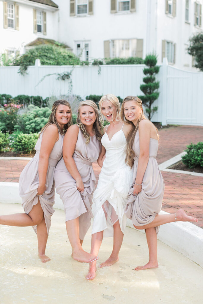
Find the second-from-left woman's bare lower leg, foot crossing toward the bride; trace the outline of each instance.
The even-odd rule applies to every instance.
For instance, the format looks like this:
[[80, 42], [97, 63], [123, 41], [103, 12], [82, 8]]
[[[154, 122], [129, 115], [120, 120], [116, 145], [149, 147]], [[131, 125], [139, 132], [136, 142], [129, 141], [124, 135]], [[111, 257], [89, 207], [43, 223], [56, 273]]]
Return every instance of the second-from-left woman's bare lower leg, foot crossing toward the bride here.
[[65, 222], [68, 239], [72, 246], [72, 257], [79, 262], [92, 262], [98, 259], [97, 256], [89, 254], [82, 249], [79, 238], [79, 217]]

